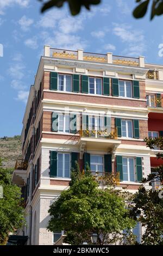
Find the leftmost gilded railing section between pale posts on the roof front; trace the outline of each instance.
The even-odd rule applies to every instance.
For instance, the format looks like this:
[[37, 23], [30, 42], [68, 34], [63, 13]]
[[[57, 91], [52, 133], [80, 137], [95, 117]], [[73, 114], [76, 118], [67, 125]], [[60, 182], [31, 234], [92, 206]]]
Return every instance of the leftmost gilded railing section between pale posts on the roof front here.
[[78, 52], [64, 49], [51, 48], [50, 56], [55, 58], [77, 59]]

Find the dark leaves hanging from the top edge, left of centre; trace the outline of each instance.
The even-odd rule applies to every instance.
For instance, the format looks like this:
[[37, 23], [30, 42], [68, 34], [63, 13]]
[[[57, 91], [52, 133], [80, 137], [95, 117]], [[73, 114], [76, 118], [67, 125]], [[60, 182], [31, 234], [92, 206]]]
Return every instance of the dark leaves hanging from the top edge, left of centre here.
[[[42, 2], [42, 0], [39, 0]], [[48, 2], [43, 4], [41, 12], [48, 10], [52, 7], [62, 7], [62, 5], [67, 2], [72, 15], [77, 15], [80, 13], [82, 6], [84, 6], [87, 10], [90, 10], [91, 4], [99, 4], [101, 0], [49, 0]]]

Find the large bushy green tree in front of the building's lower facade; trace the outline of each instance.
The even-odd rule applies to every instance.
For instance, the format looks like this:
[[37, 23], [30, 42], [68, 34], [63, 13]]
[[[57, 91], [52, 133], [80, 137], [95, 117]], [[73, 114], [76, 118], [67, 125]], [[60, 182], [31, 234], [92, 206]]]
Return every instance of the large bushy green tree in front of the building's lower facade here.
[[49, 214], [48, 229], [65, 230], [66, 241], [72, 245], [84, 241], [91, 244], [92, 233], [100, 235], [98, 245], [115, 243], [120, 240], [122, 230], [135, 225], [120, 194], [98, 188], [90, 174], [80, 174], [68, 190], [62, 191], [50, 206]]

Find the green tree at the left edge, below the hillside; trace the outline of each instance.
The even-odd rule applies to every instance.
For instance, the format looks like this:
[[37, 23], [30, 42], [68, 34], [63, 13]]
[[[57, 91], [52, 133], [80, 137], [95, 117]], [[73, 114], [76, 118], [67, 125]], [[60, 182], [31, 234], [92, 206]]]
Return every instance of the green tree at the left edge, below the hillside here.
[[0, 185], [3, 187], [3, 198], [0, 198], [0, 245], [5, 244], [9, 233], [24, 224], [24, 212], [21, 206], [21, 190], [11, 184], [12, 169], [0, 167]]

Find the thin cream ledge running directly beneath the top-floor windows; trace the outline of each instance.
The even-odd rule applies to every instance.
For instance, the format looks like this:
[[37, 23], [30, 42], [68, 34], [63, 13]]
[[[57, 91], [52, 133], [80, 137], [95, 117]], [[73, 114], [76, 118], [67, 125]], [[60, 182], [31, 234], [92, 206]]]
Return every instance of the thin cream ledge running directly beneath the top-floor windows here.
[[106, 97], [110, 99], [121, 99], [121, 100], [136, 100], [136, 101], [145, 101], [147, 102], [146, 99], [136, 99], [136, 98], [130, 98], [130, 97], [121, 97], [121, 96], [107, 96], [107, 95], [100, 95], [100, 94], [89, 94], [89, 93], [74, 93], [74, 92], [62, 92], [60, 90], [48, 90], [44, 89], [43, 92], [54, 92], [54, 93], [62, 93], [62, 94], [73, 94], [73, 95], [84, 95], [84, 96], [95, 96], [95, 97]]

